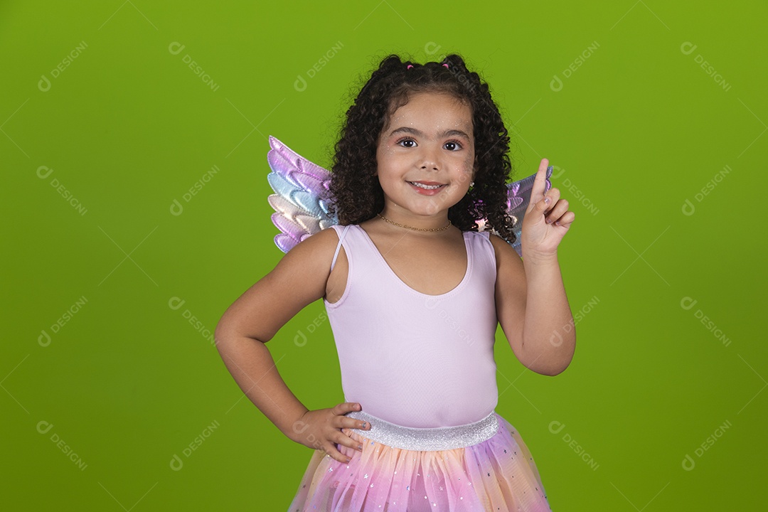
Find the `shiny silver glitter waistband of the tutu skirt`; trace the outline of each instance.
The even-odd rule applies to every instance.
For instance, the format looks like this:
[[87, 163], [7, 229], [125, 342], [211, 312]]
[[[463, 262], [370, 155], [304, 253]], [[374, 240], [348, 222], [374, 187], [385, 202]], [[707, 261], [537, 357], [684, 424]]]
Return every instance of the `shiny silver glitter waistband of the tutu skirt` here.
[[352, 411], [346, 416], [368, 421], [371, 425], [368, 430], [351, 429], [357, 434], [369, 438], [371, 441], [401, 450], [438, 451], [466, 448], [492, 438], [498, 431], [498, 420], [495, 412], [480, 421], [475, 421], [475, 423], [437, 428], [401, 427], [362, 411]]

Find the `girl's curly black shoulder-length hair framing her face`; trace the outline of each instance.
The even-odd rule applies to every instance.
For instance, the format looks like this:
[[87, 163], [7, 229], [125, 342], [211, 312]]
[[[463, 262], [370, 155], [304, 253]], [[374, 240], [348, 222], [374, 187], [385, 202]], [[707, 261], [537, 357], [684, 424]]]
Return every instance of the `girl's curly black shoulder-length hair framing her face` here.
[[[446, 67], [444, 64], [448, 64]], [[394, 112], [408, 102], [409, 93], [441, 92], [465, 101], [472, 110], [475, 137], [475, 185], [448, 210], [449, 220], [462, 231], [484, 229], [515, 242], [507, 213], [506, 183], [512, 170], [509, 135], [491, 98], [488, 84], [468, 71], [459, 55], [442, 62], [417, 64], [389, 55], [373, 71], [353, 105], [346, 111], [330, 183], [331, 214], [339, 224], [362, 223], [384, 208], [384, 192], [376, 176], [376, 148], [382, 129]]]

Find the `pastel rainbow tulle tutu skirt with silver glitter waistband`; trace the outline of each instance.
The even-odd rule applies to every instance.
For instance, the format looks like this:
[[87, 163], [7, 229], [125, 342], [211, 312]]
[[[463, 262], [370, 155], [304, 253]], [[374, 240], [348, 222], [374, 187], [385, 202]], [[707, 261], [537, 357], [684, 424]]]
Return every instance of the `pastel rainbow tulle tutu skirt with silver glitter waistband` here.
[[368, 431], [344, 431], [362, 453], [337, 444], [351, 458], [344, 464], [316, 451], [289, 512], [551, 510], [530, 451], [495, 412], [439, 429], [348, 416], [371, 423]]

